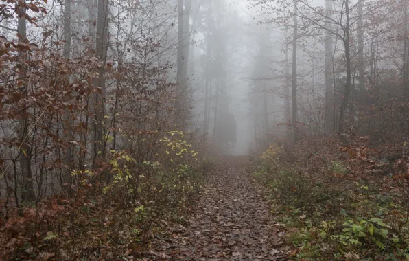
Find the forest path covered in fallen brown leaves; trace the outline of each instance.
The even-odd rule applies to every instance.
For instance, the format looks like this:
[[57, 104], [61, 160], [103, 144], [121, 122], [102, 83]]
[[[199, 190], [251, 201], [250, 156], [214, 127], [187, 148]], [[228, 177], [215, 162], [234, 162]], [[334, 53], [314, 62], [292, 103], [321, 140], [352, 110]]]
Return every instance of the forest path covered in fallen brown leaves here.
[[152, 242], [148, 260], [286, 260], [283, 233], [261, 190], [246, 173], [246, 157], [220, 161], [187, 224]]

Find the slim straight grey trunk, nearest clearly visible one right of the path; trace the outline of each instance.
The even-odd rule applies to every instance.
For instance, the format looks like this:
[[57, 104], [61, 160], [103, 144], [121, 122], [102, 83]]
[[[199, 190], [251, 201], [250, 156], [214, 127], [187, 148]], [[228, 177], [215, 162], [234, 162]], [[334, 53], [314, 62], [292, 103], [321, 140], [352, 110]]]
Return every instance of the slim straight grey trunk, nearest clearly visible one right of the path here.
[[296, 8], [297, 0], [294, 0], [294, 14], [293, 16], [293, 37], [292, 37], [292, 127], [294, 128], [294, 132], [292, 135], [292, 140], [295, 142], [297, 137], [297, 65], [296, 65], [296, 58], [297, 58], [297, 38], [298, 38], [298, 21], [297, 21], [297, 8]]

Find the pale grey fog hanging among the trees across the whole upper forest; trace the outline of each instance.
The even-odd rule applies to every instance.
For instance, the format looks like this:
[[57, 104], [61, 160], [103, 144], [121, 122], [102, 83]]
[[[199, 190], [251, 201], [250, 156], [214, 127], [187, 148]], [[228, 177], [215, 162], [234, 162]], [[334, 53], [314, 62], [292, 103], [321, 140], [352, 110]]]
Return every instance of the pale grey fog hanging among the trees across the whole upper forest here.
[[[407, 18], [397, 12], [407, 9], [406, 1], [67, 0], [41, 6], [29, 6], [34, 20], [28, 25], [5, 15], [2, 35], [16, 41], [22, 30], [43, 54], [102, 63], [91, 76], [104, 101], [96, 122], [115, 121], [95, 140], [115, 129], [114, 145], [125, 149], [132, 146], [117, 139], [117, 120], [122, 130], [195, 133], [209, 155], [248, 155], [314, 135], [342, 137], [347, 126], [360, 126], [355, 105], [368, 99], [362, 93], [400, 85], [393, 79], [409, 75], [408, 26], [399, 22]], [[84, 72], [70, 73], [69, 82], [84, 81]]]

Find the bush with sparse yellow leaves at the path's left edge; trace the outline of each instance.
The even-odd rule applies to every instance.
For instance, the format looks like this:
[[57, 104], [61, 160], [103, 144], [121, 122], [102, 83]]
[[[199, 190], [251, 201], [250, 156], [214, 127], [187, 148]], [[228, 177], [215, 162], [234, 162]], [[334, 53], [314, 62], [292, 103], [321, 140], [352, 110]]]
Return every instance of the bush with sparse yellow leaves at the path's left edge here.
[[104, 192], [112, 190], [121, 195], [118, 199], [122, 203], [149, 206], [161, 212], [185, 205], [196, 194], [203, 170], [198, 153], [183, 138], [182, 132], [171, 131], [159, 139], [154, 161], [137, 162], [114, 152], [110, 161], [113, 182]]

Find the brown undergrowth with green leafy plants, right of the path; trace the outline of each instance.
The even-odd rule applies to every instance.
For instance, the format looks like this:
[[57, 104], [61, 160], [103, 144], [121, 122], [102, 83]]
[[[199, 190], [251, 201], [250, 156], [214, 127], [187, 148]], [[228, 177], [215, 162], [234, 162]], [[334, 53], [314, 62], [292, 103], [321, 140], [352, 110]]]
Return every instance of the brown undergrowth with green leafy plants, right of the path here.
[[394, 174], [379, 176], [382, 163], [366, 146], [307, 160], [291, 148], [303, 152], [296, 163], [288, 151], [273, 144], [253, 166], [294, 260], [409, 260], [408, 180], [396, 162], [388, 170]]

